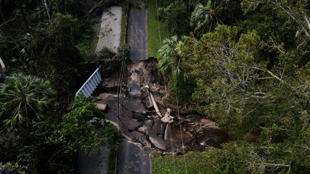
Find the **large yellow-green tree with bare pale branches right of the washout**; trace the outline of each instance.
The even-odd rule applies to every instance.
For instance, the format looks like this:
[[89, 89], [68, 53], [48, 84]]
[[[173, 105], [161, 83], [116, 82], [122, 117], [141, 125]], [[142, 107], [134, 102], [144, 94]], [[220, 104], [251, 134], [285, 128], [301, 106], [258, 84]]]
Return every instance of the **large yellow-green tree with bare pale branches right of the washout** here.
[[197, 81], [192, 97], [198, 112], [215, 119], [239, 140], [246, 140], [253, 130], [261, 131], [257, 143], [225, 145], [230, 149], [227, 153], [242, 155], [235, 159], [237, 163], [248, 161], [243, 164], [249, 173], [307, 171], [309, 60], [299, 63], [304, 56], [301, 51], [272, 44], [279, 50], [279, 62], [268, 67], [262, 58], [266, 43], [258, 34], [237, 33], [236, 27], [221, 26], [199, 41], [188, 38], [185, 42], [182, 68]]

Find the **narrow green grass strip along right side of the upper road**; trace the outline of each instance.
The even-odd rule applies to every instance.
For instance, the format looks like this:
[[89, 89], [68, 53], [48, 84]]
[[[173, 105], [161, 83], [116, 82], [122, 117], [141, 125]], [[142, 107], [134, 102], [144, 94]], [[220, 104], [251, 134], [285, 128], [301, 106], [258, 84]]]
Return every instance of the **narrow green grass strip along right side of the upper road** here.
[[[157, 7], [164, 7], [164, 0], [157, 1]], [[160, 49], [158, 22], [156, 1], [148, 0], [147, 7], [147, 45], [148, 45], [148, 57], [156, 57], [157, 50]], [[163, 41], [168, 37], [166, 21], [159, 21], [161, 40]]]

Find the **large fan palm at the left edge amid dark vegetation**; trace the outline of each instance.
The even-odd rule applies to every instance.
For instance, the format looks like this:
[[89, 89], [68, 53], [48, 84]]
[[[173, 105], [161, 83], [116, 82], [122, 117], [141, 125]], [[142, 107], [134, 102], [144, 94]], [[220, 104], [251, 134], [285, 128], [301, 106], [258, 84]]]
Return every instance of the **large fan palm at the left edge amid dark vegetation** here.
[[0, 85], [0, 118], [4, 127], [13, 129], [32, 121], [42, 121], [53, 109], [56, 92], [50, 83], [22, 73], [7, 77]]

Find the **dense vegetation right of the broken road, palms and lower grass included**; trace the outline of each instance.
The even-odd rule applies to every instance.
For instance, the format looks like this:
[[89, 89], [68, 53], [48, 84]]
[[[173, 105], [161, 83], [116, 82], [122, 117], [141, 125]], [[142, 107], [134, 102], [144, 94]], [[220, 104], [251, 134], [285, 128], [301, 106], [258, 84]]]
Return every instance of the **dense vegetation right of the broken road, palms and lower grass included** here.
[[[178, 82], [169, 83], [170, 91], [193, 89], [179, 90], [179, 103], [236, 139], [186, 154], [188, 173], [309, 172], [308, 8], [307, 1], [198, 0], [161, 9], [171, 20], [170, 35], [186, 36], [184, 43], [165, 40], [157, 54], [161, 72]], [[246, 142], [257, 130], [255, 141]], [[177, 173], [185, 173], [182, 159], [176, 159]], [[152, 161], [152, 172], [172, 173], [171, 157]]]

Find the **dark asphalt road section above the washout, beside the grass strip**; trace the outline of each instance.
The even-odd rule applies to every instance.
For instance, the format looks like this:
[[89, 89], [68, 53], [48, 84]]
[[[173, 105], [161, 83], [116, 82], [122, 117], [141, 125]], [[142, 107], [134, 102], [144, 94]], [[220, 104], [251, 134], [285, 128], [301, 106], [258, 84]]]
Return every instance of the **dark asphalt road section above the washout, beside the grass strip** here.
[[140, 9], [129, 12], [129, 58], [133, 61], [148, 59], [146, 22], [146, 11]]

